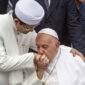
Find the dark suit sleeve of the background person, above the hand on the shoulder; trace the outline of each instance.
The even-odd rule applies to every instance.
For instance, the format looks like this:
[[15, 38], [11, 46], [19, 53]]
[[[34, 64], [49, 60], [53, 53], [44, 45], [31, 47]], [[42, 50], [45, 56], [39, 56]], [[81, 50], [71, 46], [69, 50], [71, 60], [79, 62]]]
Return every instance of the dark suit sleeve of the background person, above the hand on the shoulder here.
[[78, 13], [76, 10], [75, 0], [67, 0], [67, 28], [69, 30], [70, 38], [73, 48], [76, 48], [85, 55], [85, 33], [79, 21]]

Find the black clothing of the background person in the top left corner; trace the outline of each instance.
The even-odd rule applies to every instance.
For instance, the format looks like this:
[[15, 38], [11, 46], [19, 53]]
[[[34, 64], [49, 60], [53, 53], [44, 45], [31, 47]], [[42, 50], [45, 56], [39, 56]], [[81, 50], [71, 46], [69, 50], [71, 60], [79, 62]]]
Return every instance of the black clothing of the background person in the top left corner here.
[[0, 0], [0, 14], [7, 12], [8, 0]]

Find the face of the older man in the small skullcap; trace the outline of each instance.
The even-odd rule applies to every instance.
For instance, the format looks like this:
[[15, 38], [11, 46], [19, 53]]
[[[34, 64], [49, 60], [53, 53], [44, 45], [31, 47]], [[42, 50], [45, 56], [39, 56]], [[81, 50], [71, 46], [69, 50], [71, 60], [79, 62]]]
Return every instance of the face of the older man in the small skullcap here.
[[45, 54], [49, 61], [56, 56], [60, 42], [47, 34], [38, 34], [36, 38], [37, 50], [40, 55]]

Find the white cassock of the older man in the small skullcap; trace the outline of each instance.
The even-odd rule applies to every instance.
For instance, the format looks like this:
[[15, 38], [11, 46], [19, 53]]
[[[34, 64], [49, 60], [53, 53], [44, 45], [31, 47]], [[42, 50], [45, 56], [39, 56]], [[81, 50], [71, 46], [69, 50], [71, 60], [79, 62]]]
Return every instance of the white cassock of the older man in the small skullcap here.
[[30, 78], [24, 85], [85, 85], [85, 63], [80, 56], [73, 57], [69, 48], [60, 46], [43, 79], [38, 83]]

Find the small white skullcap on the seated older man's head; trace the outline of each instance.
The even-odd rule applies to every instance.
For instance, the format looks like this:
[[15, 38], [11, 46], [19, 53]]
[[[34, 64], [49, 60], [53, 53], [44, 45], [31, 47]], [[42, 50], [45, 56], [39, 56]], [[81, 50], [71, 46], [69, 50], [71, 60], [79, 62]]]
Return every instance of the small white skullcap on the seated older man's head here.
[[56, 31], [54, 31], [54, 30], [51, 29], [51, 28], [41, 29], [41, 30], [38, 32], [38, 34], [40, 34], [40, 33], [48, 34], [48, 35], [51, 35], [51, 36], [53, 36], [53, 37], [55, 37], [55, 38], [58, 39], [58, 34], [56, 33]]

